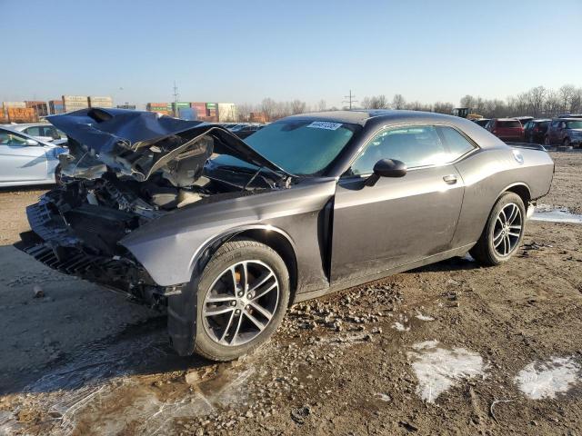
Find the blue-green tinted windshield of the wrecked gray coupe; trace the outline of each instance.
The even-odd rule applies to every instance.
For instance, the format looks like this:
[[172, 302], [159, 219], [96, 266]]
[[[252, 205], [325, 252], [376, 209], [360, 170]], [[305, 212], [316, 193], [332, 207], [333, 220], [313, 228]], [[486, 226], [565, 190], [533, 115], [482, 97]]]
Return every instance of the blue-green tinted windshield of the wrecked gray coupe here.
[[[268, 124], [246, 138], [272, 163], [296, 175], [320, 173], [332, 163], [356, 133], [356, 124], [313, 120], [284, 120]], [[213, 160], [219, 165], [252, 166], [222, 154]]]

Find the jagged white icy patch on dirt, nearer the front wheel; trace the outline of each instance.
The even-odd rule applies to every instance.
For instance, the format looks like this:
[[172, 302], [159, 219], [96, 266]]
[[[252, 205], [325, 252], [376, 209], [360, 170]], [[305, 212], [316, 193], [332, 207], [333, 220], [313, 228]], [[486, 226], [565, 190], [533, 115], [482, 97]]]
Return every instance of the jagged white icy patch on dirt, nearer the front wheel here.
[[419, 342], [412, 348], [414, 351], [406, 355], [418, 380], [416, 394], [426, 402], [435, 402], [459, 381], [485, 378], [487, 365], [476, 352], [464, 348], [448, 350], [438, 341]]

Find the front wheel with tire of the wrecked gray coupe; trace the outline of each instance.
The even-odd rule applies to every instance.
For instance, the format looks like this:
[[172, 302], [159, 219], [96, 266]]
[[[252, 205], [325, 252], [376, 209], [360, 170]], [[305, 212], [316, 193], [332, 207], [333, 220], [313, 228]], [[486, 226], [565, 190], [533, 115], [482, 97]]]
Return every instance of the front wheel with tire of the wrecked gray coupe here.
[[289, 302], [283, 259], [256, 241], [225, 243], [197, 286], [195, 350], [215, 361], [252, 351], [276, 332]]

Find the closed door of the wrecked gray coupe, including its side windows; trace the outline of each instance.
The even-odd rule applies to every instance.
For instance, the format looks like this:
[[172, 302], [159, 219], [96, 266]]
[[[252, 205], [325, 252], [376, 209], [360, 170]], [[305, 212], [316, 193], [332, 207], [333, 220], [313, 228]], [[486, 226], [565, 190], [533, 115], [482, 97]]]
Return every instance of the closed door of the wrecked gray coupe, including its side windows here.
[[[452, 162], [474, 149], [452, 127], [411, 124], [376, 134], [337, 184], [332, 284], [450, 250], [464, 193]], [[406, 163], [406, 175], [366, 186], [380, 159]]]

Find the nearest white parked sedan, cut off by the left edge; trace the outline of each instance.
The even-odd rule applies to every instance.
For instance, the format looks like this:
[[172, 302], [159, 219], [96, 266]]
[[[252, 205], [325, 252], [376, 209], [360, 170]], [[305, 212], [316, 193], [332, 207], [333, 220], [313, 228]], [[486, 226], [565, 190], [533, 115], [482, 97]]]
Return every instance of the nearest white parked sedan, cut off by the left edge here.
[[0, 186], [58, 182], [58, 155], [66, 148], [0, 127]]

